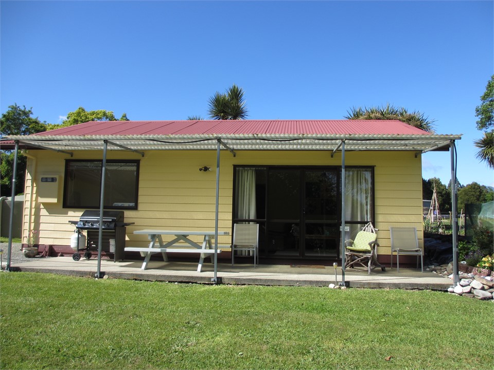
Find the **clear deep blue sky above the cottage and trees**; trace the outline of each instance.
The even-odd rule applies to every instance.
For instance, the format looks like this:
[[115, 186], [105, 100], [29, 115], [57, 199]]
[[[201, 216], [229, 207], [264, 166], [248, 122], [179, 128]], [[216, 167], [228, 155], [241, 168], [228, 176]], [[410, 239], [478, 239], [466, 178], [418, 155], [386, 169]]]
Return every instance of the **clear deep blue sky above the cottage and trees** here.
[[[60, 122], [79, 106], [131, 120], [207, 117], [232, 84], [250, 119], [341, 119], [386, 103], [435, 119], [457, 177], [475, 158], [475, 106], [494, 73], [493, 1], [1, 1], [1, 100]], [[449, 153], [422, 176], [451, 178]]]

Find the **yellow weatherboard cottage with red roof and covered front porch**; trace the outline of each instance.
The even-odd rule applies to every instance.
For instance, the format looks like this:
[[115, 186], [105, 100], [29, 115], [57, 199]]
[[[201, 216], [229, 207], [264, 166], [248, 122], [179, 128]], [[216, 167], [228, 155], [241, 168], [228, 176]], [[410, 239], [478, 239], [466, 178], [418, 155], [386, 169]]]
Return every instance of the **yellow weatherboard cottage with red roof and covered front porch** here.
[[28, 157], [23, 235], [39, 230], [40, 246], [69, 253], [69, 221], [103, 208], [125, 212], [132, 247], [149, 243], [136, 230], [220, 230], [229, 252], [234, 224], [259, 224], [261, 264], [332, 263], [369, 222], [381, 263], [391, 226], [416, 227], [423, 245], [421, 154], [460, 138], [373, 120], [107, 121], [9, 137]]

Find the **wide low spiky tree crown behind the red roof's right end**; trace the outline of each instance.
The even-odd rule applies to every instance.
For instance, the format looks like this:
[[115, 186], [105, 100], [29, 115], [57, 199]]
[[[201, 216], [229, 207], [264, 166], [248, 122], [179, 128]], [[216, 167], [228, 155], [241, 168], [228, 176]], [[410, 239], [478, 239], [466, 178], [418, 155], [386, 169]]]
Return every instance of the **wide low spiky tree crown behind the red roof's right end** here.
[[424, 113], [420, 113], [417, 110], [410, 113], [406, 108], [398, 108], [390, 104], [370, 108], [352, 107], [347, 113], [346, 119], [399, 120], [424, 131], [434, 132], [432, 127], [435, 120], [425, 117]]

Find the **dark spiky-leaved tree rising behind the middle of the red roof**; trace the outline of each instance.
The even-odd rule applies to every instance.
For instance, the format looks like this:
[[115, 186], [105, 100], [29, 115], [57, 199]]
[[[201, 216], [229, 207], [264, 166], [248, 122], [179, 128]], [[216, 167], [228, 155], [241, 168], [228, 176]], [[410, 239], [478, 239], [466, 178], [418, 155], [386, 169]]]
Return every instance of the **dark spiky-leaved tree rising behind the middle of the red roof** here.
[[225, 94], [216, 94], [209, 98], [209, 118], [215, 120], [240, 120], [247, 118], [247, 107], [243, 90], [237, 85], [226, 90]]

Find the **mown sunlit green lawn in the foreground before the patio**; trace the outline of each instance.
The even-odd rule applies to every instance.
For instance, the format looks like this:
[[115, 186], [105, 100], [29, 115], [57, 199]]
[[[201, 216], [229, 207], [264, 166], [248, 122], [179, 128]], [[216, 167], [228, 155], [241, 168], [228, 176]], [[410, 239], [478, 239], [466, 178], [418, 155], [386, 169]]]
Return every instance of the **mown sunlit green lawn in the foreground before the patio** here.
[[0, 283], [2, 369], [494, 368], [494, 304], [443, 292]]

